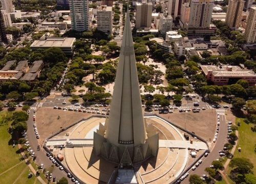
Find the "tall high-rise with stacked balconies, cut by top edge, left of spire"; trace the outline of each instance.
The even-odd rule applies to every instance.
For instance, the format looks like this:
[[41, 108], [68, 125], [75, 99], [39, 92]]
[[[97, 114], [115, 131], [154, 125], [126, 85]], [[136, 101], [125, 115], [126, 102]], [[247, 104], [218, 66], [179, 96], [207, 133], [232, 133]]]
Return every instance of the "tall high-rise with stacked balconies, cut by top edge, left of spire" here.
[[88, 0], [69, 0], [69, 7], [72, 30], [89, 30]]

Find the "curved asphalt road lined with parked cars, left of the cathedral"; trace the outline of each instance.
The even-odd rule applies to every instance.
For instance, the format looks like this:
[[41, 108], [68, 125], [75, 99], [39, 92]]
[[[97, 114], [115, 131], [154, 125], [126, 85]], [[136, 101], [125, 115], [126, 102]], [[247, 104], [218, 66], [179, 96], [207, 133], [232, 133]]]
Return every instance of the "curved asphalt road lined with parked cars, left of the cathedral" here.
[[[36, 113], [34, 113], [32, 109], [30, 111], [31, 112], [28, 120], [28, 130], [27, 130], [29, 144], [33, 149], [33, 151], [35, 152], [36, 163], [38, 165], [44, 164], [44, 168], [50, 168], [50, 166], [53, 165], [53, 163], [51, 162], [49, 157], [46, 156], [46, 151], [44, 150], [44, 148], [40, 147], [40, 150], [37, 151], [38, 140], [36, 139], [36, 135], [33, 127], [33, 124], [35, 123], [33, 121], [33, 114], [36, 114]], [[65, 171], [59, 170], [57, 167], [54, 167], [52, 175], [53, 177], [55, 176], [56, 179], [60, 179], [61, 177], [67, 177], [67, 173]], [[73, 183], [70, 179], [68, 180], [69, 180], [69, 183]]]

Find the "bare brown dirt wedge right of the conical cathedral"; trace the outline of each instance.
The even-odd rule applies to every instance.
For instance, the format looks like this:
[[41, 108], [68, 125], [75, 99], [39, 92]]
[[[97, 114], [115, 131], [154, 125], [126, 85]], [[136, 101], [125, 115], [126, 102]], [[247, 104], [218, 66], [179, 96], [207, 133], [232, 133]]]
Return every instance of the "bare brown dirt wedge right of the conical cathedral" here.
[[160, 115], [189, 131], [195, 132], [205, 140], [209, 140], [209, 138], [212, 139], [212, 137], [214, 137], [217, 123], [215, 110], [201, 110], [199, 113], [190, 111], [187, 113], [177, 112]]

